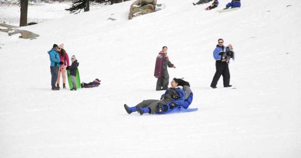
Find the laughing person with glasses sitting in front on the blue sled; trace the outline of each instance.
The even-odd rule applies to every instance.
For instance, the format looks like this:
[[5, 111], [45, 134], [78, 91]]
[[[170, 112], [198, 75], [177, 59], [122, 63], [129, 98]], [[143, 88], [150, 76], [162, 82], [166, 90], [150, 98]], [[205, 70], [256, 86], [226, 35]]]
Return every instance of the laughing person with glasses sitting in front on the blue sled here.
[[129, 107], [124, 104], [127, 113], [138, 112], [140, 115], [143, 113], [156, 113], [166, 112], [168, 109], [173, 109], [175, 106], [181, 106], [184, 103], [185, 92], [183, 87], [179, 86], [180, 79], [174, 78], [172, 80], [171, 88], [168, 88], [161, 96], [161, 100], [144, 100], [134, 107]]

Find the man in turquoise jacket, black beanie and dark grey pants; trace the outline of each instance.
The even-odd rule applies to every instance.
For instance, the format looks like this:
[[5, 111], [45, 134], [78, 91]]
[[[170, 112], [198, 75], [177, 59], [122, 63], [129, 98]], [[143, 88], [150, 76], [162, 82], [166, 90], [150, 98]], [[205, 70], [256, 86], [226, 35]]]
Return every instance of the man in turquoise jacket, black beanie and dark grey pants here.
[[50, 73], [51, 73], [51, 89], [53, 91], [60, 90], [55, 87], [55, 82], [57, 80], [59, 67], [63, 62], [60, 60], [59, 53], [57, 52], [58, 46], [53, 45], [52, 49], [48, 51], [50, 58]]

